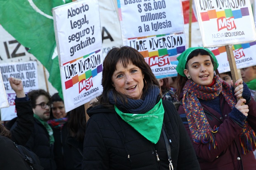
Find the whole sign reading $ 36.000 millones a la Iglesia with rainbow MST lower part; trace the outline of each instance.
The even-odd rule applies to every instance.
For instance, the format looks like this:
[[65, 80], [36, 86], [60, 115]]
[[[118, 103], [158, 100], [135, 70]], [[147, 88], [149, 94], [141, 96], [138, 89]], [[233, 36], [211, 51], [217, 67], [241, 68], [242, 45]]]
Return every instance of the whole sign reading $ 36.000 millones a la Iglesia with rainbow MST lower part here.
[[140, 51], [156, 78], [177, 76], [176, 58], [186, 49], [181, 1], [117, 0], [117, 6], [123, 45]]

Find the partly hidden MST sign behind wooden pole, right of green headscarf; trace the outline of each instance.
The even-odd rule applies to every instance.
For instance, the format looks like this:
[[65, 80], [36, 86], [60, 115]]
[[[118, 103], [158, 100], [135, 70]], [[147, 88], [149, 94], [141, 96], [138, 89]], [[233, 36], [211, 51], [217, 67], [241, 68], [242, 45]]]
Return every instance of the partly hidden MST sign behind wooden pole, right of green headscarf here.
[[[218, 60], [218, 72], [223, 73], [230, 71], [230, 65], [225, 47], [209, 49], [213, 52], [213, 54], [216, 56], [216, 59]], [[254, 57], [256, 51], [256, 42], [233, 45], [232, 49], [237, 69], [256, 65], [256, 57]]]

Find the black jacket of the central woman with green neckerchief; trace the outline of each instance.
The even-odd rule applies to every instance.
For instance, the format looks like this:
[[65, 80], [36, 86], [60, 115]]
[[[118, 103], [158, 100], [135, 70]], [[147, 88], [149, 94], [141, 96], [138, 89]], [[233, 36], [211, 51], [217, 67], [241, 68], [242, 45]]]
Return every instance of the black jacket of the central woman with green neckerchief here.
[[[166, 100], [163, 105], [174, 169], [199, 170], [192, 143], [174, 105]], [[114, 109], [98, 105], [87, 113], [90, 119], [84, 140], [83, 170], [169, 170], [162, 133], [157, 144], [153, 144], [123, 121]]]

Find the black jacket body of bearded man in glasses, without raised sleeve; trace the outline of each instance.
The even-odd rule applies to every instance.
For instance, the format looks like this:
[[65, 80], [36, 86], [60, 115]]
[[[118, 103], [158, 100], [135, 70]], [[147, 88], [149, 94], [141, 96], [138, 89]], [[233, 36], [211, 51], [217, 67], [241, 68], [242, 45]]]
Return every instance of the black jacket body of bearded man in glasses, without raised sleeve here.
[[33, 151], [40, 159], [44, 170], [56, 170], [54, 161], [53, 144], [50, 144], [49, 134], [40, 121], [34, 118], [34, 130], [26, 143], [26, 148]]

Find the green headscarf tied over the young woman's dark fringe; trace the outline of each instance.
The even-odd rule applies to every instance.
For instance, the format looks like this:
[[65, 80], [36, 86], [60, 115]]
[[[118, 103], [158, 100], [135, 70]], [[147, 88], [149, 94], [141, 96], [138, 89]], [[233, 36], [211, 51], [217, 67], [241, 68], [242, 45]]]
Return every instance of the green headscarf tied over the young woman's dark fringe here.
[[184, 70], [186, 69], [187, 58], [190, 55], [190, 53], [196, 49], [204, 49], [205, 51], [207, 51], [211, 55], [211, 57], [213, 58], [213, 61], [215, 63], [213, 70], [216, 70], [218, 68], [218, 66], [219, 66], [218, 61], [217, 61], [215, 55], [213, 54], [213, 52], [211, 52], [211, 50], [206, 49], [204, 47], [191, 47], [191, 48], [188, 48], [185, 51], [183, 51], [183, 53], [177, 57], [179, 63], [176, 67], [176, 70], [181, 76], [186, 77], [186, 75], [184, 74]]

